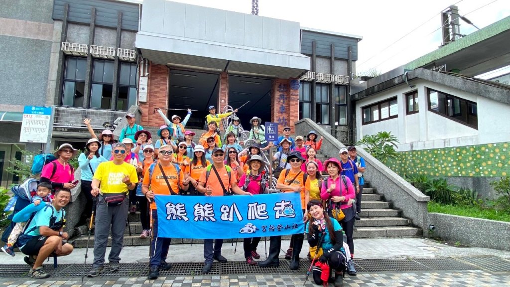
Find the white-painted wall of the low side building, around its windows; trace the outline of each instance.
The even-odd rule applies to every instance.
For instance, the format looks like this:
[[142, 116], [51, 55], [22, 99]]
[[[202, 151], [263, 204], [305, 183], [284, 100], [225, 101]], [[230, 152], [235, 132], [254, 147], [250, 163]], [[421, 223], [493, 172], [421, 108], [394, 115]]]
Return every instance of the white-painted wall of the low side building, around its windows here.
[[[382, 91], [368, 99], [356, 102], [356, 125], [358, 139], [366, 134], [391, 131], [400, 141], [398, 151], [438, 149], [446, 147], [480, 145], [508, 141], [510, 125], [504, 120], [510, 115], [510, 105], [502, 104], [476, 94], [458, 90], [425, 80], [412, 82]], [[454, 95], [477, 103], [478, 129], [468, 127], [428, 110], [427, 88]], [[405, 93], [418, 90], [419, 112], [405, 114]], [[397, 96], [398, 117], [362, 125], [362, 107]]]

